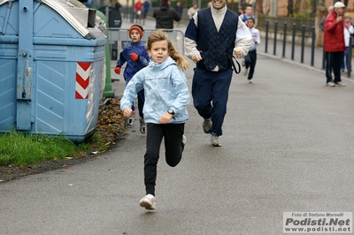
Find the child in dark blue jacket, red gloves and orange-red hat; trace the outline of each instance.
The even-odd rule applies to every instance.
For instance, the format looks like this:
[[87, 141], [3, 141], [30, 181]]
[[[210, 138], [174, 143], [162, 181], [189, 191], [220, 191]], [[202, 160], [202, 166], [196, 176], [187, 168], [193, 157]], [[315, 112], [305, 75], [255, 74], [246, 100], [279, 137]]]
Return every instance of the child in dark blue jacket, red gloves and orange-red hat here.
[[[142, 43], [143, 28], [139, 25], [133, 25], [129, 28], [129, 37], [132, 42], [128, 42], [124, 49], [119, 54], [117, 66], [114, 72], [120, 74], [120, 68], [127, 62], [126, 69], [124, 70], [124, 80], [126, 80], [126, 86], [128, 82], [133, 78], [136, 72], [140, 71], [143, 67], [149, 64], [149, 54], [145, 49], [144, 43]], [[140, 132], [145, 133], [146, 125], [142, 114], [142, 108], [144, 103], [144, 91], [141, 90], [138, 93], [138, 109], [139, 109], [139, 121]], [[127, 125], [132, 125], [135, 117], [135, 106], [132, 104], [133, 113], [127, 118]]]

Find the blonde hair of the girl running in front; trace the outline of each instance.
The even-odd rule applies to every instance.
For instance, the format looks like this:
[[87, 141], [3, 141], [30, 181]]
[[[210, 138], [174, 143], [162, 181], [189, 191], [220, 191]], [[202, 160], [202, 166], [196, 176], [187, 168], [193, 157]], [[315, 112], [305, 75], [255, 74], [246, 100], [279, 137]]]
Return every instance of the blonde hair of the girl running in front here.
[[146, 42], [146, 49], [150, 50], [152, 43], [159, 41], [167, 42], [168, 54], [173, 58], [173, 60], [177, 63], [177, 66], [181, 68], [182, 71], [189, 68], [189, 62], [174, 48], [171, 38], [165, 34], [162, 29], [158, 29], [150, 34], [148, 42]]

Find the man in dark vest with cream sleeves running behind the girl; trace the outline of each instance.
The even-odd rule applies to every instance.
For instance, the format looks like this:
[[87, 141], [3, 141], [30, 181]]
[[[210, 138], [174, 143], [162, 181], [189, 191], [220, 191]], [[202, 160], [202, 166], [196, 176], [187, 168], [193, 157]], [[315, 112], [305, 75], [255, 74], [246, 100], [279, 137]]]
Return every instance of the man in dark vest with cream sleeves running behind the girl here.
[[227, 9], [226, 0], [196, 11], [186, 29], [186, 55], [196, 63], [192, 96], [203, 131], [211, 134], [212, 146], [220, 147], [219, 136], [227, 113], [228, 89], [233, 75], [230, 56], [244, 57], [250, 49], [250, 30]]

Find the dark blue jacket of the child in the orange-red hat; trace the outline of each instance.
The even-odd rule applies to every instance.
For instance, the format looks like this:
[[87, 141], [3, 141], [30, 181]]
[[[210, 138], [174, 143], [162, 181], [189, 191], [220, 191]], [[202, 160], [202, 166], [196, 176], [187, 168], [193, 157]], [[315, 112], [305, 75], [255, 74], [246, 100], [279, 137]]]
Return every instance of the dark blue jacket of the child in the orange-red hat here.
[[[136, 53], [139, 56], [139, 60], [133, 61], [129, 56], [130, 53]], [[119, 53], [117, 65], [121, 67], [126, 62], [127, 66], [124, 70], [123, 77], [124, 80], [127, 81], [131, 80], [136, 72], [149, 64], [149, 53], [142, 41], [136, 42], [136, 44], [128, 42], [124, 49]]]

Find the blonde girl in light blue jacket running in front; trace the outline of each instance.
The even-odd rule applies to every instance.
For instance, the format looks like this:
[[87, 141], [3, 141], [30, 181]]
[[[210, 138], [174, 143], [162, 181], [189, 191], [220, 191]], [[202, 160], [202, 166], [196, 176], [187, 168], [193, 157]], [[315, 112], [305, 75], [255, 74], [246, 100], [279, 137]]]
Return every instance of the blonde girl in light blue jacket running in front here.
[[150, 34], [147, 49], [151, 57], [149, 66], [137, 72], [124, 91], [120, 109], [124, 116], [132, 115], [130, 109], [136, 95], [145, 90], [144, 117], [148, 132], [144, 155], [144, 183], [146, 195], [140, 206], [155, 209], [155, 185], [159, 150], [165, 139], [165, 161], [171, 167], [181, 161], [186, 137], [184, 124], [189, 118], [187, 105], [190, 95], [187, 79], [182, 71], [188, 61], [173, 47], [173, 42], [161, 29]]

